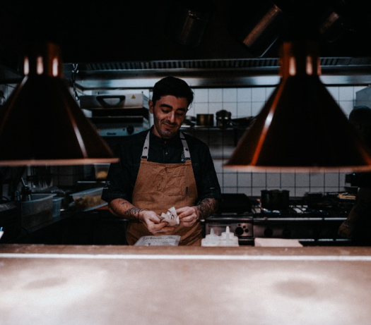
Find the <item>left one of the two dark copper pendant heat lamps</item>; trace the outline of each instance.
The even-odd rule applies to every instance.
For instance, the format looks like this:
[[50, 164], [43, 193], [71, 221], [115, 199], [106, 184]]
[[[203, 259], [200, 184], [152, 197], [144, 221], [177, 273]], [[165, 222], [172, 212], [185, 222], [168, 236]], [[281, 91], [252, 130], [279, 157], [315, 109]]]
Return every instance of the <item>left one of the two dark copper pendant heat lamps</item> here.
[[0, 166], [118, 161], [62, 79], [57, 44], [29, 49], [24, 73], [0, 109]]

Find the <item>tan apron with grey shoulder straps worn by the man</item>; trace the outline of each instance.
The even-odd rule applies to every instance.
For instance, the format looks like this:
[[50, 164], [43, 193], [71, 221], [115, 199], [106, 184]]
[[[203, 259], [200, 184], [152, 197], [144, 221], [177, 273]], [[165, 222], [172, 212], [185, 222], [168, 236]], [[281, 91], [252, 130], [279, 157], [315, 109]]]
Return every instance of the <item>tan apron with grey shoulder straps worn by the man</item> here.
[[[141, 156], [141, 166], [133, 191], [133, 204], [139, 209], [149, 209], [161, 215], [167, 209], [175, 207], [192, 207], [196, 203], [197, 188], [192, 168], [191, 156], [183, 133], [180, 138], [183, 144], [185, 162], [180, 164], [160, 164], [148, 161], [148, 132]], [[126, 240], [134, 245], [139, 238], [154, 235], [148, 231], [145, 223], [134, 219], [129, 221]], [[163, 234], [156, 234], [163, 235]], [[201, 245], [201, 223], [197, 221], [192, 227], [179, 225], [176, 230], [166, 235], [180, 235], [179, 245]]]

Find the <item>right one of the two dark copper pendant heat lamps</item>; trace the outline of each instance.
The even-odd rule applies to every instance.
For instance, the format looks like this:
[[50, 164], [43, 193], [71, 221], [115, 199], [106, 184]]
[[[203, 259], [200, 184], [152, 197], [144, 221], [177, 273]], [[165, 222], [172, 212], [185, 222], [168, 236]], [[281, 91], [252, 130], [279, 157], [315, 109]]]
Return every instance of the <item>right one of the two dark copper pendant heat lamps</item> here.
[[369, 149], [319, 79], [316, 41], [281, 46], [281, 81], [226, 168], [236, 171], [370, 171]]

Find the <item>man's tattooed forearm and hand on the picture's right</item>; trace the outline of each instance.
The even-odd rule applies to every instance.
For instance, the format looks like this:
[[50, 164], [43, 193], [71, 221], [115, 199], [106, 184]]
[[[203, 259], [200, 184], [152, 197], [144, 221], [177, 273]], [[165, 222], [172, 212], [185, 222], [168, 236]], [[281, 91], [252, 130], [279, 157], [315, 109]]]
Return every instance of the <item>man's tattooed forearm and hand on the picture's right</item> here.
[[182, 207], [177, 209], [180, 223], [191, 227], [197, 220], [206, 219], [218, 209], [218, 200], [204, 199], [194, 207]]

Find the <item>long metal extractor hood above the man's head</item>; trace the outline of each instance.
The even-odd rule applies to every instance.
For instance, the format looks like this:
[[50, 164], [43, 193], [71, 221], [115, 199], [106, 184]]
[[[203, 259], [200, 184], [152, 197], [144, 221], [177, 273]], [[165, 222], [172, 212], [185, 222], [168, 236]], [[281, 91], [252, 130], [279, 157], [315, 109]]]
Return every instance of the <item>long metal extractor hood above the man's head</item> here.
[[[370, 57], [321, 58], [325, 85], [369, 85]], [[160, 78], [174, 75], [192, 87], [274, 86], [279, 82], [277, 58], [131, 61], [80, 63], [76, 87], [81, 90], [151, 88]], [[65, 64], [71, 78], [73, 64]]]

